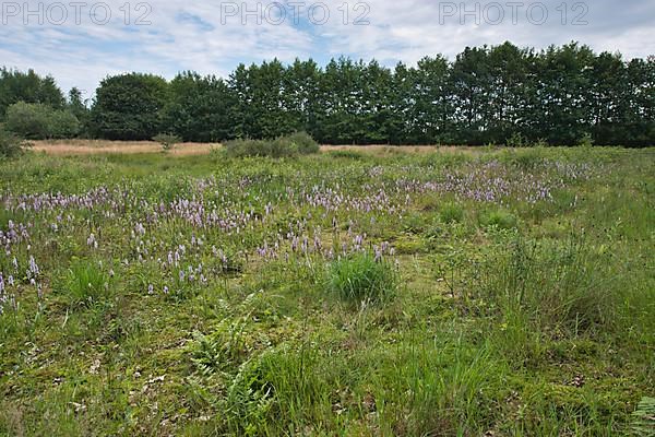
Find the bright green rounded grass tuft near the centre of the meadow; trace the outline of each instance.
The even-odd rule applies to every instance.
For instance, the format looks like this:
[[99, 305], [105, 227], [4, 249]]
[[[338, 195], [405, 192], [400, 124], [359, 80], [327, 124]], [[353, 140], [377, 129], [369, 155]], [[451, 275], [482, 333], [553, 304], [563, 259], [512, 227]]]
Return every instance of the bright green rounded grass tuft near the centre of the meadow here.
[[329, 290], [352, 304], [385, 302], [394, 295], [396, 286], [393, 268], [368, 252], [341, 258], [330, 264]]

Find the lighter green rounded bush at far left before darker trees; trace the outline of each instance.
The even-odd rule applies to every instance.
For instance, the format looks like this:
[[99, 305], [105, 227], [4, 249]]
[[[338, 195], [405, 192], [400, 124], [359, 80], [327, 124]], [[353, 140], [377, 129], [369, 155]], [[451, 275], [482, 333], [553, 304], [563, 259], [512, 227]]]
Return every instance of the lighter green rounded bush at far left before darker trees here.
[[80, 121], [68, 110], [19, 102], [7, 109], [7, 129], [31, 140], [73, 138]]

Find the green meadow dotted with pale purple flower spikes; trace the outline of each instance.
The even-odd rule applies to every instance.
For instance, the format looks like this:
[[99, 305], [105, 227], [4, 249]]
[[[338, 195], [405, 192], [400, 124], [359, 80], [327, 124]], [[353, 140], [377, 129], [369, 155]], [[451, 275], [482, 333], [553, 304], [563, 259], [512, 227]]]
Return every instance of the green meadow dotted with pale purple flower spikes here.
[[0, 162], [0, 435], [655, 433], [655, 151]]

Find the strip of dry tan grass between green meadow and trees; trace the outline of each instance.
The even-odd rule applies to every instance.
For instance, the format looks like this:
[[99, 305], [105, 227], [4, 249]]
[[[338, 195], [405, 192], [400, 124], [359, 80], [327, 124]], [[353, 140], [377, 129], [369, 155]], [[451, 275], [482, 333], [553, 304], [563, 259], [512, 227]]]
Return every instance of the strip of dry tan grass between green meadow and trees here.
[[[159, 153], [162, 146], [153, 141], [106, 141], [106, 140], [60, 140], [60, 141], [33, 141], [33, 151], [45, 152], [52, 155], [87, 155], [87, 154], [134, 154]], [[221, 147], [219, 143], [180, 143], [169, 153], [179, 156], [204, 155], [212, 149]], [[471, 147], [440, 146], [442, 152], [464, 151]], [[321, 151], [354, 150], [364, 153], [384, 154], [385, 152], [430, 153], [437, 147], [432, 145], [323, 145]]]

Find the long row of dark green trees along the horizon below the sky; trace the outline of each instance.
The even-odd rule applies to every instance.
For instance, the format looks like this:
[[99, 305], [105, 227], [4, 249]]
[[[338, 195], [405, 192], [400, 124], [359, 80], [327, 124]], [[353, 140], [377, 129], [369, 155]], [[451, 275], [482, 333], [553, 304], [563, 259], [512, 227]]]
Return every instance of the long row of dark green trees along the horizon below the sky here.
[[0, 70], [0, 121], [31, 138], [184, 141], [307, 131], [327, 144], [655, 144], [655, 57], [511, 43], [390, 69], [348, 58], [239, 64], [228, 78], [129, 73], [90, 105], [52, 78]]

